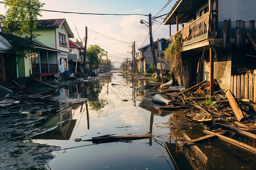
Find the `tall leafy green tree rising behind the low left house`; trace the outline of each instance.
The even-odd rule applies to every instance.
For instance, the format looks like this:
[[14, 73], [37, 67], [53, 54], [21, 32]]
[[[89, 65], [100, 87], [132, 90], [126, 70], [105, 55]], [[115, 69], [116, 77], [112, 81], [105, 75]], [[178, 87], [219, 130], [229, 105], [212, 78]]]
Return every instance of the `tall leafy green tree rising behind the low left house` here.
[[42, 16], [39, 8], [44, 4], [39, 0], [6, 0], [6, 22], [3, 23], [3, 31], [11, 35], [15, 33], [19, 37], [28, 34], [32, 41], [38, 25], [38, 16]]

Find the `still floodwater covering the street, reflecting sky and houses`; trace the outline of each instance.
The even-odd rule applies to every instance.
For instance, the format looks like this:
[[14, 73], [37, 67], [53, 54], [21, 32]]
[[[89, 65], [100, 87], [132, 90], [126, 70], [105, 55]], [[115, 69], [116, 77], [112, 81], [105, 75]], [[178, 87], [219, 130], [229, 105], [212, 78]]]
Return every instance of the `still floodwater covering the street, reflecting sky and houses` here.
[[[50, 111], [0, 117], [0, 169], [254, 169], [255, 155], [214, 138], [185, 146], [205, 135], [203, 127], [158, 110], [147, 82], [121, 73], [60, 88], [59, 96], [87, 98], [51, 103]], [[76, 139], [152, 134], [152, 138], [109, 143]]]

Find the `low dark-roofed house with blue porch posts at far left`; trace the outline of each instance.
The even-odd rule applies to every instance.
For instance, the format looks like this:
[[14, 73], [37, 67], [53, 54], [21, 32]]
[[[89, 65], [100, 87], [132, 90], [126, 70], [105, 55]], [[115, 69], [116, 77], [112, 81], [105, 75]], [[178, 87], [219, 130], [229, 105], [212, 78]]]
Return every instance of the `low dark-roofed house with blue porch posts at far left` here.
[[[11, 53], [11, 44], [19, 41], [19, 45], [28, 48], [24, 57], [18, 57], [17, 53]], [[11, 36], [9, 33], [0, 32], [0, 53], [1, 53], [1, 69], [0, 82], [9, 82], [16, 78], [26, 78], [36, 76], [47, 76], [58, 74], [57, 67], [52, 67], [47, 61], [51, 58], [48, 56], [56, 56], [58, 50], [50, 48], [39, 41], [32, 40], [27, 37]], [[46, 62], [46, 64], [42, 64]], [[16, 65], [15, 65], [16, 63]]]

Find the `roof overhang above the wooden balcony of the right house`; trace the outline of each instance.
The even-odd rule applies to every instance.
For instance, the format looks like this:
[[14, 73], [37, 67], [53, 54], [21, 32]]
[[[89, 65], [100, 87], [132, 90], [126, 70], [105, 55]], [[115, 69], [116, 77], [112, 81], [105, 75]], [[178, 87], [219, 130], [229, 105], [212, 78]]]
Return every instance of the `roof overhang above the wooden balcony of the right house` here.
[[164, 19], [164, 24], [176, 24], [176, 16], [178, 16], [178, 23], [189, 22], [189, 14], [196, 11], [205, 1], [208, 0], [178, 0]]

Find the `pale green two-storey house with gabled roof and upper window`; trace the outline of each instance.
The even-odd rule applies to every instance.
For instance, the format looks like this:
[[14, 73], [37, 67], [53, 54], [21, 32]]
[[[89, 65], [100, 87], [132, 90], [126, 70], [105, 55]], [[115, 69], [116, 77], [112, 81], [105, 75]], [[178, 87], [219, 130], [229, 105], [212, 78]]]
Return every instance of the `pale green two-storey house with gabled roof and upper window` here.
[[[73, 38], [73, 33], [65, 19], [44, 19], [39, 20], [35, 34], [36, 40], [58, 50], [57, 54], [48, 54], [49, 64], [56, 65], [59, 73], [68, 70], [69, 38]], [[42, 64], [47, 64], [42, 61]]]

